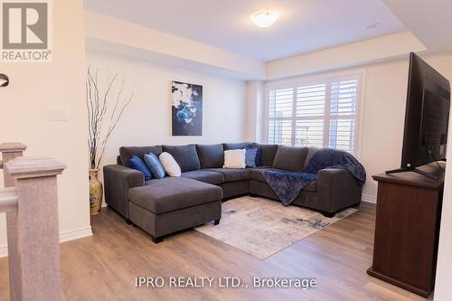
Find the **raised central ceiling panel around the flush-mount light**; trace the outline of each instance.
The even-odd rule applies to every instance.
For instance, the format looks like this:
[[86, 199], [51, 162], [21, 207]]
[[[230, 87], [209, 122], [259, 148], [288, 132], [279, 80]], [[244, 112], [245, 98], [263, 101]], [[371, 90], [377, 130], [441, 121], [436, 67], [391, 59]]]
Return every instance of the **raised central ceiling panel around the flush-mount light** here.
[[[262, 61], [405, 30], [381, 0], [85, 0], [85, 8]], [[279, 14], [252, 24], [262, 9]], [[379, 23], [376, 29], [366, 29]], [[145, 37], [144, 37], [145, 38]]]

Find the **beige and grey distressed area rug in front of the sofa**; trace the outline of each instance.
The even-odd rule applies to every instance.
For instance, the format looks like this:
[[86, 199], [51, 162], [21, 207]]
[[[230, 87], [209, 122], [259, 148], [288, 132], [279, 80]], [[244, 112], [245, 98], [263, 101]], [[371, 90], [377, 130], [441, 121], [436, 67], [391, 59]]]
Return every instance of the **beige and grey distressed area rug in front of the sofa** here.
[[250, 196], [222, 203], [221, 222], [196, 230], [258, 258], [266, 259], [281, 249], [357, 212], [355, 208], [326, 218], [318, 212]]

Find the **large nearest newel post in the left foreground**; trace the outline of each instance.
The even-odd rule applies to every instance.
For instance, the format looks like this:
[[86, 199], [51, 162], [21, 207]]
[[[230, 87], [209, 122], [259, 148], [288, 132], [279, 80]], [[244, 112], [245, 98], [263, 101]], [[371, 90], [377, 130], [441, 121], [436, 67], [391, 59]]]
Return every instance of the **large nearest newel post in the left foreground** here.
[[18, 199], [7, 220], [12, 300], [61, 300], [56, 176], [64, 168], [52, 158], [4, 163]]

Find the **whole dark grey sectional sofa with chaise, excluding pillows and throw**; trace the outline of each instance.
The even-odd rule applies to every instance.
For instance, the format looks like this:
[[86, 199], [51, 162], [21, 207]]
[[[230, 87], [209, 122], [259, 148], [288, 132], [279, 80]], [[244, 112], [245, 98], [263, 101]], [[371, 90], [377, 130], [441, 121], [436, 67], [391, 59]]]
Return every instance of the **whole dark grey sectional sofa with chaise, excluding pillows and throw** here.
[[[223, 152], [247, 147], [260, 148], [260, 165], [246, 169], [223, 169]], [[301, 171], [315, 147], [261, 145], [256, 143], [123, 146], [118, 164], [106, 165], [105, 198], [108, 206], [146, 230], [155, 242], [165, 235], [221, 219], [221, 201], [251, 194], [278, 200], [260, 173], [263, 168]], [[168, 152], [181, 166], [180, 178], [165, 177], [145, 182], [144, 174], [129, 168], [132, 155]], [[362, 187], [352, 174], [324, 169], [318, 181], [309, 183], [293, 202], [325, 216], [361, 202]]]

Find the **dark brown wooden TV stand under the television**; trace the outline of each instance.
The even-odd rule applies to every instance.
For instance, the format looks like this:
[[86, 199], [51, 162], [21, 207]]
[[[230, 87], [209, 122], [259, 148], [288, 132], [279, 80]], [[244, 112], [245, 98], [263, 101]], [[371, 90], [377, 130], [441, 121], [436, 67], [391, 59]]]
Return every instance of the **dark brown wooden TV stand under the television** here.
[[419, 168], [438, 180], [412, 172], [372, 176], [377, 216], [367, 273], [427, 297], [435, 284], [444, 173], [436, 163]]

